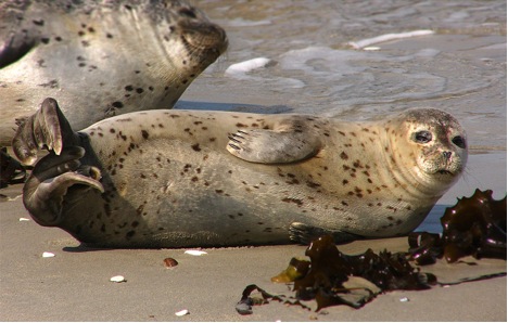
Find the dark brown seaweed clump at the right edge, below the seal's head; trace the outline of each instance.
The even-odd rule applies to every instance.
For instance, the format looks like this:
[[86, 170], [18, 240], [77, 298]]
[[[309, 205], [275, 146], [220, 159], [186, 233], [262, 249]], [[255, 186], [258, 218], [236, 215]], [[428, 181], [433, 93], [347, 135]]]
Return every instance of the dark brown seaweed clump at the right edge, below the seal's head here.
[[409, 235], [409, 254], [418, 264], [431, 264], [444, 257], [456, 262], [466, 256], [506, 259], [506, 196], [492, 197], [492, 191], [475, 190], [446, 208], [441, 218], [443, 234], [415, 232]]

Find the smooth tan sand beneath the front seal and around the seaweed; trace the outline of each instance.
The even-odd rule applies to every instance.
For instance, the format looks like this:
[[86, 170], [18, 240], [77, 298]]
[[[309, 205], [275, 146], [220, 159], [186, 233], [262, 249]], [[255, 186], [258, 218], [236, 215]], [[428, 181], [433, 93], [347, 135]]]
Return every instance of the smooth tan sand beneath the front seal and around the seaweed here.
[[[474, 153], [474, 152], [473, 152]], [[456, 196], [474, 189], [506, 194], [506, 152], [472, 154], [465, 178], [434, 208], [437, 219]], [[290, 294], [270, 282], [305, 246], [266, 246], [206, 249], [205, 256], [183, 249], [86, 250], [60, 229], [39, 227], [16, 197], [21, 185], [0, 190], [14, 201], [0, 202], [0, 320], [1, 321], [506, 321], [506, 277], [433, 287], [424, 292], [391, 292], [359, 310], [345, 306], [320, 313], [278, 302], [255, 307], [242, 316], [234, 310], [243, 288], [257, 284], [271, 293]], [[346, 254], [367, 248], [406, 250], [405, 237], [361, 241], [340, 246]], [[42, 258], [43, 251], [55, 254]], [[163, 259], [179, 264], [166, 269]], [[422, 270], [441, 282], [506, 271], [504, 260], [474, 260], [437, 264]], [[127, 282], [112, 283], [124, 275]], [[407, 297], [409, 301], [401, 301]], [[309, 303], [315, 308], [315, 303]], [[176, 316], [187, 309], [190, 314]]]

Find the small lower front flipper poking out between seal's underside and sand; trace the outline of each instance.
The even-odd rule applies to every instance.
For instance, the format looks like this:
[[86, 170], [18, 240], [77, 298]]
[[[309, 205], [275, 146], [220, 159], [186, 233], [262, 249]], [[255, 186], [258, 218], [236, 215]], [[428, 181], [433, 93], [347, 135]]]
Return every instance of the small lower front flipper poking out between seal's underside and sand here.
[[355, 240], [363, 238], [363, 236], [347, 233], [339, 230], [327, 230], [319, 227], [308, 225], [302, 222], [293, 222], [289, 228], [290, 240], [294, 243], [307, 245], [312, 241], [322, 236], [331, 235], [335, 244], [343, 244]]

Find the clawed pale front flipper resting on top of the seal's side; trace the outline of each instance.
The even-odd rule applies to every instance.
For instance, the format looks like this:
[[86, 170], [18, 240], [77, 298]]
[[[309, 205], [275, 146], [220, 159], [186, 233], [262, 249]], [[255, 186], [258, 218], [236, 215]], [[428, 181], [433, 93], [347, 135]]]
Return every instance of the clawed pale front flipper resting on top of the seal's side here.
[[227, 150], [234, 156], [259, 164], [287, 164], [315, 156], [319, 143], [302, 131], [239, 130], [229, 135]]

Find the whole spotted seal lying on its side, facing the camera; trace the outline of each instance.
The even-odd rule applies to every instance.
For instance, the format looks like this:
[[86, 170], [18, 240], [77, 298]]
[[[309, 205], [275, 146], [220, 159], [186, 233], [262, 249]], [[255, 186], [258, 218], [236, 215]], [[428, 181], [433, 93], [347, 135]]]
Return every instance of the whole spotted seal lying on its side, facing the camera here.
[[39, 224], [104, 247], [403, 235], [468, 157], [458, 121], [433, 108], [368, 122], [161, 109], [74, 132], [47, 99], [13, 141], [28, 164], [45, 146], [26, 208]]

